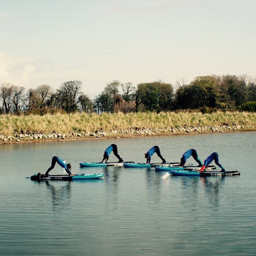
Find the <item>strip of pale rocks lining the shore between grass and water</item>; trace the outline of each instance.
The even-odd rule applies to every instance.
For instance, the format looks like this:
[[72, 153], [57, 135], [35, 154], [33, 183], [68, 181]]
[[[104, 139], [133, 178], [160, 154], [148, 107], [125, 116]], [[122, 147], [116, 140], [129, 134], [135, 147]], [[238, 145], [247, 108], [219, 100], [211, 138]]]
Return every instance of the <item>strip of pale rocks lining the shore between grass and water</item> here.
[[129, 129], [112, 129], [103, 131], [81, 131], [69, 132], [68, 134], [52, 131], [51, 133], [26, 131], [23, 133], [15, 133], [13, 136], [0, 134], [0, 144], [21, 143], [21, 142], [39, 142], [54, 140], [84, 140], [84, 139], [100, 139], [100, 138], [124, 138], [135, 136], [157, 136], [157, 135], [173, 135], [188, 133], [209, 133], [209, 132], [230, 132], [230, 131], [253, 131], [256, 130], [255, 125], [239, 125], [239, 124], [222, 124], [220, 126], [188, 126], [183, 127], [165, 127], [164, 129], [156, 128], [129, 128]]

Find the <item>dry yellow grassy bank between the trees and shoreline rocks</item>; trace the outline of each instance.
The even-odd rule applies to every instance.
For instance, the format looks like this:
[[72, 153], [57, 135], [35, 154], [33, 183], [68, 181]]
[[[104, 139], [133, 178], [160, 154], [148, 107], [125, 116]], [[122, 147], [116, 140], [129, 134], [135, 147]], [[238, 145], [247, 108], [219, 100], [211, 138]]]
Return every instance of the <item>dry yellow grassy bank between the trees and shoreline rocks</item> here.
[[27, 130], [50, 133], [95, 131], [102, 128], [109, 131], [113, 128], [161, 128], [189, 126], [221, 125], [223, 123], [253, 125], [256, 124], [256, 113], [248, 112], [217, 112], [202, 113], [116, 113], [116, 114], [56, 114], [45, 116], [14, 116], [0, 115], [0, 133], [12, 135]]

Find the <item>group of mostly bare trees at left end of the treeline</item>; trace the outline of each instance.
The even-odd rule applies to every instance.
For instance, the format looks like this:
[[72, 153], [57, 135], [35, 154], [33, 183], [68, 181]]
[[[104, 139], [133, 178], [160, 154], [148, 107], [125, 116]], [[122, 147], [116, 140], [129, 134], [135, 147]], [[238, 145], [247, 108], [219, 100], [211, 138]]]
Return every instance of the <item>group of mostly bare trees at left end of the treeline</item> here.
[[48, 84], [39, 85], [26, 92], [22, 86], [3, 83], [0, 85], [0, 102], [2, 114], [94, 111], [93, 101], [82, 92], [81, 81], [65, 82], [56, 92]]

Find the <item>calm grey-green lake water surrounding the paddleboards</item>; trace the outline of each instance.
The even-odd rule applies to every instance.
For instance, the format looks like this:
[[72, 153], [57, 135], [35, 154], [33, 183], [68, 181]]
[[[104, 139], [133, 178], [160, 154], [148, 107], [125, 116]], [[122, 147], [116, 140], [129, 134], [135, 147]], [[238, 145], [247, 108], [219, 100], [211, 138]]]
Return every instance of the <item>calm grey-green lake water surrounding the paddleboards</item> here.
[[[168, 162], [189, 148], [202, 161], [218, 152], [241, 175], [162, 180], [154, 169], [79, 167], [101, 161], [112, 143], [134, 162], [155, 145]], [[0, 255], [256, 255], [255, 146], [256, 132], [0, 145]], [[52, 156], [104, 177], [25, 179], [44, 173]], [[51, 173], [64, 172], [57, 164]]]

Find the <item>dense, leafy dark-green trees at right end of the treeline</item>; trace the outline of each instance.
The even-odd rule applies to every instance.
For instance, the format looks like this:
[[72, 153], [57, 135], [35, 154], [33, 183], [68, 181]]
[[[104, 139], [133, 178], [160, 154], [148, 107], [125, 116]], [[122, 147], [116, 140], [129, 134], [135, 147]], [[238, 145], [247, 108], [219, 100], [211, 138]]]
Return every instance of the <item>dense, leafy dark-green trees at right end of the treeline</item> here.
[[256, 100], [256, 78], [241, 76], [198, 76], [186, 85], [178, 81], [176, 107], [236, 109]]

